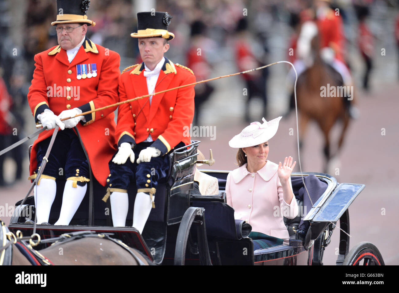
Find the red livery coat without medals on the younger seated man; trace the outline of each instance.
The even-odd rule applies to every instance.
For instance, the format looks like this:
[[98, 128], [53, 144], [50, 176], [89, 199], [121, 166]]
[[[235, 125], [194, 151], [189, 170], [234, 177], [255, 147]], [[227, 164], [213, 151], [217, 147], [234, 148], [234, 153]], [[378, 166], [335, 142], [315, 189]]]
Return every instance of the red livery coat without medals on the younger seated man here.
[[[144, 63], [141, 63], [120, 75], [120, 102], [148, 94], [143, 72]], [[190, 69], [165, 58], [155, 92], [195, 82], [196, 78]], [[149, 97], [120, 105], [115, 133], [118, 146], [122, 142], [135, 146], [146, 140], [148, 134], [154, 140], [151, 146], [159, 149], [162, 155], [179, 142], [190, 144], [194, 95], [194, 86], [189, 86], [152, 96], [151, 106]]]

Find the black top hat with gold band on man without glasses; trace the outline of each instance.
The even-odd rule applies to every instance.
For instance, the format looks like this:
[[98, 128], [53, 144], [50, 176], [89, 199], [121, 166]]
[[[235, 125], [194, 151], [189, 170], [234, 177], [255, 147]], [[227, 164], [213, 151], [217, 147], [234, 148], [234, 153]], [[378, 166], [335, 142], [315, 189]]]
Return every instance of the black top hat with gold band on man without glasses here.
[[163, 37], [170, 41], [174, 38], [174, 34], [168, 31], [171, 18], [168, 12], [138, 12], [137, 32], [130, 36]]

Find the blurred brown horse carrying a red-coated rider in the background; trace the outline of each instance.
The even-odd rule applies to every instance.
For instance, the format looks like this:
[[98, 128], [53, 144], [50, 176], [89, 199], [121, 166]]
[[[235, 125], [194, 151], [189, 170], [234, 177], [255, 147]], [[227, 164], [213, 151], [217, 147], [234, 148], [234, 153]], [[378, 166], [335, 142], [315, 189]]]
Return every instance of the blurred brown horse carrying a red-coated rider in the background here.
[[[296, 86], [299, 112], [299, 146], [302, 148], [302, 141], [309, 121], [314, 120], [324, 136], [324, 156], [326, 158], [324, 172], [327, 173], [330, 169], [331, 159], [338, 157], [350, 122], [350, 116], [344, 104], [346, 97], [322, 96], [322, 87], [328, 88], [328, 85], [330, 85], [330, 88], [338, 88], [342, 86], [342, 78], [338, 72], [322, 61], [319, 53], [320, 39], [318, 34], [311, 41], [311, 52], [313, 64], [298, 77]], [[338, 120], [343, 122], [342, 130], [338, 140], [338, 149], [332, 155], [330, 131]]]

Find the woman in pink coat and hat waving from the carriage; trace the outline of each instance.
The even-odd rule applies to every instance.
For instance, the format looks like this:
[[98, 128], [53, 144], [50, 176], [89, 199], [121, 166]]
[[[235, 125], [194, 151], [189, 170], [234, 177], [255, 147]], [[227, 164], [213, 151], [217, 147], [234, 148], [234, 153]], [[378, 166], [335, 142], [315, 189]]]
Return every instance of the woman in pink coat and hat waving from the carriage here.
[[288, 245], [283, 216], [292, 219], [298, 214], [290, 179], [296, 161], [292, 163], [291, 156], [279, 165], [267, 160], [268, 141], [276, 134], [280, 119], [252, 122], [229, 141], [229, 146], [239, 148], [239, 168], [227, 176], [226, 197], [236, 219], [246, 220], [253, 231], [281, 238]]

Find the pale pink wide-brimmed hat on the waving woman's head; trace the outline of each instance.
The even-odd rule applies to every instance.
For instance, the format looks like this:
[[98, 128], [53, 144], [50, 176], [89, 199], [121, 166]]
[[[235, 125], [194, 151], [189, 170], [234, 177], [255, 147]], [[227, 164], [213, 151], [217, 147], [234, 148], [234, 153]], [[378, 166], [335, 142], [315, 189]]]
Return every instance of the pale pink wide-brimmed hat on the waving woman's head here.
[[237, 134], [229, 141], [229, 146], [239, 148], [251, 147], [267, 142], [276, 134], [281, 118], [282, 116], [269, 122], [265, 118], [262, 118], [262, 124], [260, 122], [252, 122], [240, 134]]

